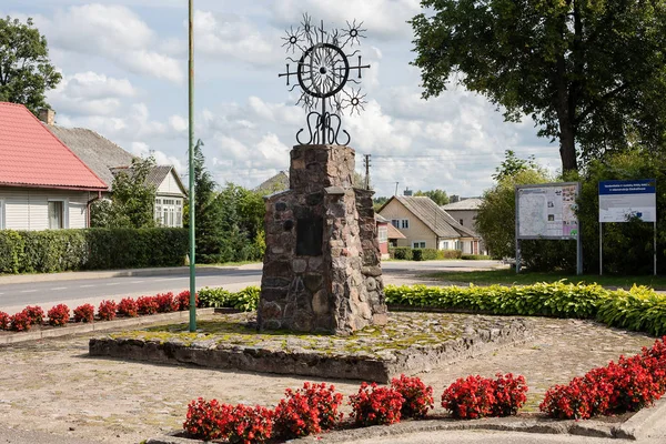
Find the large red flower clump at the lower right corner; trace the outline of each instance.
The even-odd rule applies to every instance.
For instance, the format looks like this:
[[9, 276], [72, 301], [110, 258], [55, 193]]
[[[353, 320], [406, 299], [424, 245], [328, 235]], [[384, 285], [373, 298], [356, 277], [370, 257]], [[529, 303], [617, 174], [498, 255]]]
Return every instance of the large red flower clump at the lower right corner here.
[[666, 392], [666, 336], [632, 357], [593, 369], [568, 385], [546, 392], [539, 410], [556, 418], [585, 420], [595, 415], [635, 412]]

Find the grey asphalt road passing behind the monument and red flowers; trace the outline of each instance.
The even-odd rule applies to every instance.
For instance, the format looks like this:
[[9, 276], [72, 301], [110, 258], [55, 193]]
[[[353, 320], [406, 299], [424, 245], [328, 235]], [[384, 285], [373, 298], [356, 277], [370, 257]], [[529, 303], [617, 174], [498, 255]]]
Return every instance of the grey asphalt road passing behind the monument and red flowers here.
[[[201, 269], [196, 272], [196, 287], [223, 286], [238, 291], [248, 285], [259, 285], [261, 282], [261, 264], [243, 265], [240, 268]], [[416, 275], [443, 270], [492, 269], [496, 261], [424, 261], [403, 262], [390, 261], [382, 263], [387, 278]], [[120, 300], [153, 295], [163, 292], [181, 292], [189, 287], [189, 275], [183, 270], [181, 274], [157, 274], [151, 276], [115, 276], [100, 279], [59, 280], [58, 275], [40, 275], [39, 280], [23, 283], [2, 283], [0, 279], [0, 311], [12, 314], [26, 305], [39, 304], [46, 310], [57, 303], [65, 303], [70, 309], [74, 304], [89, 302], [97, 305], [104, 299]], [[50, 280], [52, 278], [52, 280]], [[68, 276], [72, 278], [72, 276]]]

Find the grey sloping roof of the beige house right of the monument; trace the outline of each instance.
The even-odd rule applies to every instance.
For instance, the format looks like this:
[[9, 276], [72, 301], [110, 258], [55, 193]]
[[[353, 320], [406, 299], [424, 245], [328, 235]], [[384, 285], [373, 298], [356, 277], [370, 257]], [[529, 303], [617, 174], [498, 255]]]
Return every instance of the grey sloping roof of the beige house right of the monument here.
[[391, 199], [397, 199], [440, 238], [478, 238], [474, 231], [461, 225], [431, 198], [394, 195]]

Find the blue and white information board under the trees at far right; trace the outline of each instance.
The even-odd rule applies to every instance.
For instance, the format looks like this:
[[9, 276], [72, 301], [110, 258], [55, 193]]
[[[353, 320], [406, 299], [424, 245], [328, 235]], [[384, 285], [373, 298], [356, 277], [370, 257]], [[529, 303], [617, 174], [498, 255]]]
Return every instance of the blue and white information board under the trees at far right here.
[[630, 218], [656, 222], [656, 181], [599, 182], [599, 222], [627, 222]]

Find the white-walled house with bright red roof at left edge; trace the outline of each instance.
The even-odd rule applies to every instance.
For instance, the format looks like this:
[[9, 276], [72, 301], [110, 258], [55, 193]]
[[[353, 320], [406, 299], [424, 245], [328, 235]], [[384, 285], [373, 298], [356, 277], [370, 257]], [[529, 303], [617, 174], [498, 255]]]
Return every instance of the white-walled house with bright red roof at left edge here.
[[26, 107], [0, 102], [0, 230], [87, 228], [108, 189]]

